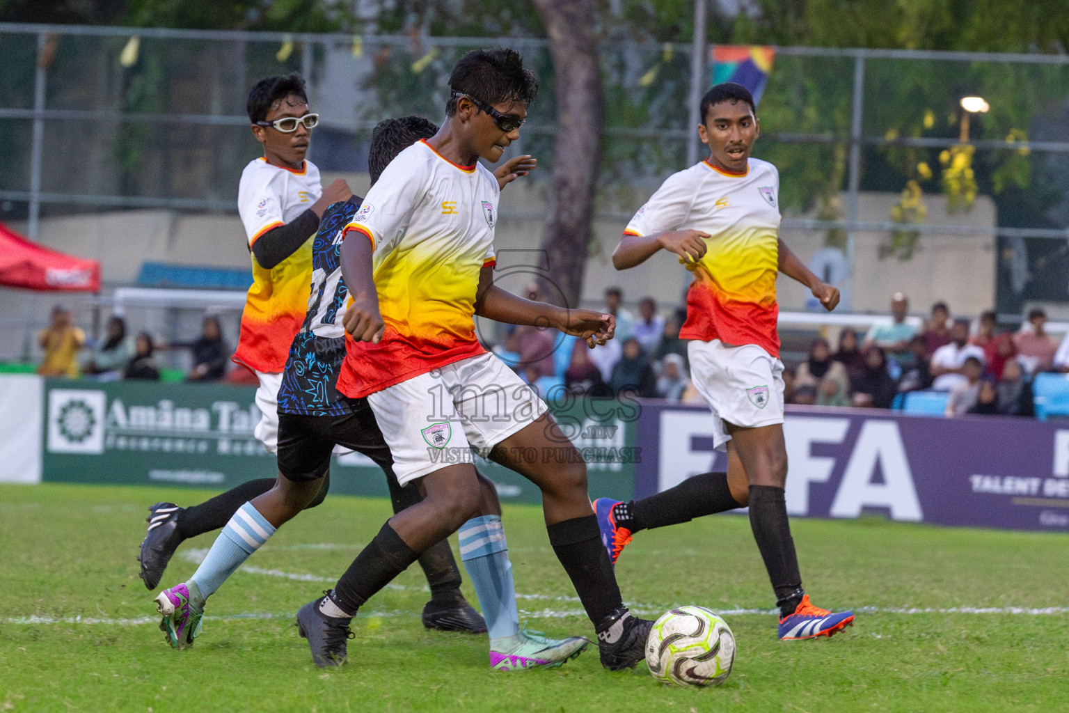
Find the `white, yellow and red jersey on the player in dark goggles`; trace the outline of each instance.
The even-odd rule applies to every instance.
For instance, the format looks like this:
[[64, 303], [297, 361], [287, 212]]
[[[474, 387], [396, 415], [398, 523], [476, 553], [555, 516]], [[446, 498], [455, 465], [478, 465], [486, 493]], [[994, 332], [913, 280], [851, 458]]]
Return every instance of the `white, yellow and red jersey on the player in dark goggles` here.
[[344, 238], [371, 241], [386, 330], [377, 344], [347, 341], [339, 391], [366, 397], [485, 352], [472, 316], [499, 195], [482, 165], [452, 164], [425, 141], [390, 161]]

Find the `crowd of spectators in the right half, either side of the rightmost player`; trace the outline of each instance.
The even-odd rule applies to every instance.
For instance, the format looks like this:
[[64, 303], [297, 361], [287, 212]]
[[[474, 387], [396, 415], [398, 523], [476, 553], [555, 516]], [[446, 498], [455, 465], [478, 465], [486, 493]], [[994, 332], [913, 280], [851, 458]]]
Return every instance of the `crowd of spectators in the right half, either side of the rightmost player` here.
[[[538, 298], [536, 285], [526, 296]], [[623, 305], [619, 288], [605, 292], [616, 316], [616, 338], [590, 350], [560, 342], [548, 329], [516, 327], [495, 351], [545, 396], [553, 386], [576, 394], [666, 399], [704, 403], [690, 378], [686, 341], [679, 338], [685, 309], [659, 313], [645, 297], [638, 314]], [[1069, 372], [1069, 336], [1045, 330], [1047, 314], [1032, 310], [1017, 330], [1000, 329], [994, 312], [975, 324], [954, 319], [944, 303], [921, 322], [909, 315], [909, 298], [892, 297], [890, 320], [867, 332], [838, 332], [835, 346], [816, 339], [806, 357], [784, 372], [788, 403], [892, 408], [910, 391], [945, 392], [947, 415], [1033, 414], [1032, 379], [1043, 371]], [[561, 360], [557, 350], [567, 351]], [[562, 352], [562, 354], [564, 354]]]

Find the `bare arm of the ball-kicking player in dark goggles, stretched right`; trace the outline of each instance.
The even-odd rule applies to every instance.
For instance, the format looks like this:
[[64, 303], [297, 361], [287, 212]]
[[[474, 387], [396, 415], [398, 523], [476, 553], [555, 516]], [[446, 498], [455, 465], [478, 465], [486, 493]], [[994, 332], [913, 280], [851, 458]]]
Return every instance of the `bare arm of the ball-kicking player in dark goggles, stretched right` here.
[[494, 284], [494, 272], [483, 267], [479, 274], [475, 313], [505, 324], [553, 327], [566, 335], [586, 340], [591, 348], [604, 344], [616, 331], [616, 317], [593, 310], [569, 310], [556, 305], [524, 299]]

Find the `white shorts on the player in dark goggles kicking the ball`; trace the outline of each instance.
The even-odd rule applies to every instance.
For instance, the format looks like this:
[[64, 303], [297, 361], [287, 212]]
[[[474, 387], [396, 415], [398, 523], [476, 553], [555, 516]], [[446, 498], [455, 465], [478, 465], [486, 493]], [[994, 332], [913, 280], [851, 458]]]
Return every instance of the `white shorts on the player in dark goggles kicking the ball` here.
[[368, 397], [402, 485], [494, 446], [546, 413], [534, 390], [493, 354], [414, 376]]

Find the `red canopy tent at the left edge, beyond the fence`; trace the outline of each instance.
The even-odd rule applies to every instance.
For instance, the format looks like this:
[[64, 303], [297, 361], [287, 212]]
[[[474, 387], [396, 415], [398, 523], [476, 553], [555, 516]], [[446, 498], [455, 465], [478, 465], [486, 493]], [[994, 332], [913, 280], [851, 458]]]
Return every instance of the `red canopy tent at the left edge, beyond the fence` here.
[[0, 223], [0, 286], [99, 292], [100, 263], [37, 245]]

